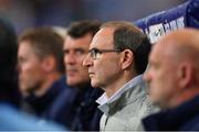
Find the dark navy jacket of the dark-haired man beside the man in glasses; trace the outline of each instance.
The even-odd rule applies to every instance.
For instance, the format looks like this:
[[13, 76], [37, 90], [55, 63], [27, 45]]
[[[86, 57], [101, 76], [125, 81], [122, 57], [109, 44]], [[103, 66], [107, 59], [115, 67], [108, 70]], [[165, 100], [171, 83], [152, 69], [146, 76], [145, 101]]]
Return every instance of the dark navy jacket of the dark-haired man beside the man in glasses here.
[[48, 119], [64, 124], [73, 131], [97, 131], [102, 112], [97, 109], [95, 100], [101, 95], [101, 89], [91, 86], [81, 89], [67, 87], [56, 99]]

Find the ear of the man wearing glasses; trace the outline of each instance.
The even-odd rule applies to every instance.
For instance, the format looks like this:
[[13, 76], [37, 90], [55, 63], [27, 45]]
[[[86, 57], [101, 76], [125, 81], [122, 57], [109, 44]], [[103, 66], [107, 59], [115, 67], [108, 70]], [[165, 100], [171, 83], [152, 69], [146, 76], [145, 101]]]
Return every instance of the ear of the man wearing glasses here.
[[125, 50], [122, 54], [122, 68], [126, 69], [133, 64], [134, 53], [130, 50]]

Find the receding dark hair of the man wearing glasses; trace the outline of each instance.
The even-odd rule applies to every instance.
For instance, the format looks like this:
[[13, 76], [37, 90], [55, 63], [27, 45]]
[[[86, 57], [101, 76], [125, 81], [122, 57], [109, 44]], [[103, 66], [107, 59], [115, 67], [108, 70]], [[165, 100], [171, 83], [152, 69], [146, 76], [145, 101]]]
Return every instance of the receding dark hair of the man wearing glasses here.
[[124, 21], [104, 23], [102, 28], [114, 29], [114, 45], [116, 50], [130, 50], [135, 56], [135, 72], [143, 74], [148, 64], [151, 44], [138, 28]]

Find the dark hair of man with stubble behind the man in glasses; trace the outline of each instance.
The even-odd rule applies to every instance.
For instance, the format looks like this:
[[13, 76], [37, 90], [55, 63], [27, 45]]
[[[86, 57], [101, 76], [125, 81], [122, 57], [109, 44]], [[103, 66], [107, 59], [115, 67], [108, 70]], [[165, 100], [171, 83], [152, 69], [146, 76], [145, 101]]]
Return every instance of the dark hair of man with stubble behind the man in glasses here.
[[94, 20], [73, 22], [67, 29], [67, 35], [78, 38], [90, 33], [92, 36], [94, 36], [100, 30], [101, 24], [102, 23], [100, 21]]

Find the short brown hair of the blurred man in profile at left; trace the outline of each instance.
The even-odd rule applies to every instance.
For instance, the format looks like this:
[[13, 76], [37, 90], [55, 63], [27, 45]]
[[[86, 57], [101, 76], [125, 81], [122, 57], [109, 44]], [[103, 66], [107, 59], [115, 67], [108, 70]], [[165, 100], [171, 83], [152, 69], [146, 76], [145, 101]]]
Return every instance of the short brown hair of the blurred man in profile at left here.
[[53, 55], [57, 70], [64, 73], [63, 63], [63, 38], [51, 28], [35, 28], [27, 30], [20, 37], [18, 43], [28, 41], [34, 50], [34, 53], [39, 58], [45, 58], [49, 55]]

